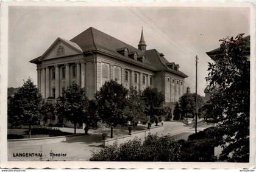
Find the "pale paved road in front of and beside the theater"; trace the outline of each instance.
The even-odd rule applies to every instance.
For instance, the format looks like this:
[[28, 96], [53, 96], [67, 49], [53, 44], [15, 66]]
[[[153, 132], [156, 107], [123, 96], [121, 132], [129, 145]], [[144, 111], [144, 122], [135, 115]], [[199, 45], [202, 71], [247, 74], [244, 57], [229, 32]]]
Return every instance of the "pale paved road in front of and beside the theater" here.
[[[181, 122], [165, 122], [165, 131], [160, 133], [162, 135], [171, 135], [174, 139], [187, 140], [190, 134], [194, 133], [194, 128], [186, 126]], [[202, 126], [198, 131], [209, 126]], [[60, 128], [62, 131], [73, 132], [73, 128]], [[83, 129], [77, 129], [77, 133], [84, 133]], [[89, 160], [91, 151], [101, 150], [101, 134], [96, 133], [95, 130], [89, 130], [89, 135], [80, 137], [76, 140], [60, 142], [60, 143], [46, 143], [42, 145], [26, 145], [26, 146], [8, 146], [9, 160], [40, 160], [40, 157], [19, 157], [16, 153], [42, 153], [41, 160]], [[50, 156], [50, 153], [60, 154], [60, 156]], [[14, 155], [13, 155], [14, 154]]]

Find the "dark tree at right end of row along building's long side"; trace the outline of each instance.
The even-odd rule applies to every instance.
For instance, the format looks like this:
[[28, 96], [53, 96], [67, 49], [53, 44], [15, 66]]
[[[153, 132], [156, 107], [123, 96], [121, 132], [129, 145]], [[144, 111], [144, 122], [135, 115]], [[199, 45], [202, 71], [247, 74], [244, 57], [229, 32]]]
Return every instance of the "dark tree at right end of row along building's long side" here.
[[155, 117], [162, 115], [162, 105], [165, 101], [165, 95], [158, 92], [157, 88], [146, 88], [142, 92], [144, 101], [144, 113], [154, 120]]

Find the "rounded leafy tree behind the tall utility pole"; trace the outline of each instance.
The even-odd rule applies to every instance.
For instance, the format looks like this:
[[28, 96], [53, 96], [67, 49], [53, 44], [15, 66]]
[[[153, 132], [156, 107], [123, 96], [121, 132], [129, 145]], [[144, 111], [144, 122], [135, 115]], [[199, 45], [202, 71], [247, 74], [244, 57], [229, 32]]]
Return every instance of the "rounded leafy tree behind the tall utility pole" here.
[[[204, 103], [204, 100], [201, 95], [197, 94], [197, 107], [200, 109]], [[182, 95], [179, 99], [179, 107], [182, 109], [182, 116], [185, 116], [186, 119], [188, 114], [196, 114], [196, 94], [195, 93], [186, 93]]]

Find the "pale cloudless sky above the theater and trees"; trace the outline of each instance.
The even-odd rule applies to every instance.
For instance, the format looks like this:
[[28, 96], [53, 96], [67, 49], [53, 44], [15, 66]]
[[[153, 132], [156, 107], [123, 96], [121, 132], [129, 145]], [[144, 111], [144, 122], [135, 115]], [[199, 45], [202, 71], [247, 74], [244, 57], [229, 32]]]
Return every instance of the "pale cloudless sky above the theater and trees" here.
[[185, 87], [195, 92], [196, 55], [198, 89], [204, 95], [207, 62], [205, 52], [219, 47], [219, 40], [238, 33], [249, 35], [249, 9], [238, 7], [9, 7], [8, 87], [22, 86], [32, 78], [42, 55], [58, 38], [71, 40], [94, 27], [137, 47], [141, 27], [147, 49], [157, 49], [188, 75]]

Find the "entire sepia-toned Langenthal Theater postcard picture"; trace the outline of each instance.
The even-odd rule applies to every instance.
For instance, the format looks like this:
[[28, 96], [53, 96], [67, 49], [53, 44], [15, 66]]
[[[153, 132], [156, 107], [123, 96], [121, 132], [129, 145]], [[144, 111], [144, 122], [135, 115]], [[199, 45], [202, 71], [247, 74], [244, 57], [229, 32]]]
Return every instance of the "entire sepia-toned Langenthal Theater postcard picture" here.
[[252, 167], [252, 9], [9, 5], [7, 162]]

